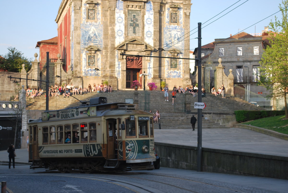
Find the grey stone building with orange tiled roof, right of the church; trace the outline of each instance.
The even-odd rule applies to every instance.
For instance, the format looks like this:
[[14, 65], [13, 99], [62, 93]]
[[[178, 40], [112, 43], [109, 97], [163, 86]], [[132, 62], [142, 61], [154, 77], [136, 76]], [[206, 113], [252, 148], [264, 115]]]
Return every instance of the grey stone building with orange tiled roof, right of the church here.
[[[217, 77], [216, 67], [221, 58], [222, 68], [228, 76], [230, 69], [234, 75], [234, 85], [248, 89], [254, 93], [265, 94], [266, 89], [257, 86], [259, 79], [259, 61], [262, 58], [264, 49], [269, 45], [267, 40], [268, 28], [262, 31], [258, 36], [253, 36], [245, 32], [230, 36], [226, 39], [215, 39], [214, 42], [202, 46], [202, 66], [203, 66], [203, 85], [211, 90], [215, 85]], [[194, 54], [197, 56], [198, 49]], [[192, 80], [197, 80], [196, 76]], [[193, 82], [193, 81], [192, 81]], [[220, 81], [221, 82], [221, 81]]]

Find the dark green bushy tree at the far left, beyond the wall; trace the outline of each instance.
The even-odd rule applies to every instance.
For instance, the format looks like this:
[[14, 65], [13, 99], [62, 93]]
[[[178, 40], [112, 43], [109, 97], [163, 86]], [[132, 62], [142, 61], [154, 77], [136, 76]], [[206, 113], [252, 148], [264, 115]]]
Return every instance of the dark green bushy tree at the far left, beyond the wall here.
[[32, 58], [26, 58], [23, 53], [15, 47], [8, 47], [8, 53], [0, 60], [0, 70], [8, 72], [21, 72], [22, 64], [25, 64], [25, 70], [28, 72], [31, 68]]

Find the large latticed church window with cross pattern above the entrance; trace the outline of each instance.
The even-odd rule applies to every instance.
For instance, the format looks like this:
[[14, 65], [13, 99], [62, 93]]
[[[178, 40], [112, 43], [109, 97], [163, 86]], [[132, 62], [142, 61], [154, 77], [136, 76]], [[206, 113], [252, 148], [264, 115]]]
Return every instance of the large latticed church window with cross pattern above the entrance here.
[[141, 36], [141, 11], [128, 10], [128, 36]]

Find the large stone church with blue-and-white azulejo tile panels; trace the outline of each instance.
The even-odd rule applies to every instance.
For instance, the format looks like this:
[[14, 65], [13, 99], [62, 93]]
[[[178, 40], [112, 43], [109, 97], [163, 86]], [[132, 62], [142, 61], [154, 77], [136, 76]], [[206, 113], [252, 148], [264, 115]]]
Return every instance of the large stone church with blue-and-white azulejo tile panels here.
[[160, 81], [190, 85], [190, 61], [181, 58], [190, 54], [191, 5], [188, 0], [62, 0], [55, 20], [59, 60], [50, 77], [58, 70], [61, 80], [55, 83], [87, 87], [107, 80], [122, 90], [131, 89], [133, 80], [143, 86], [144, 78], [158, 88]]

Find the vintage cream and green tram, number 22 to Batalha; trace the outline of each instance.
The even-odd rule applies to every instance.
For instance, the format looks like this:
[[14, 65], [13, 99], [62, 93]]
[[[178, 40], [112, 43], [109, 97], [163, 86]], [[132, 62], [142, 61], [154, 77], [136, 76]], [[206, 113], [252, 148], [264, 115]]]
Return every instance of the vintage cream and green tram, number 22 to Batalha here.
[[159, 164], [151, 113], [136, 110], [134, 104], [107, 103], [105, 97], [87, 103], [45, 111], [28, 124], [31, 168], [90, 173]]

